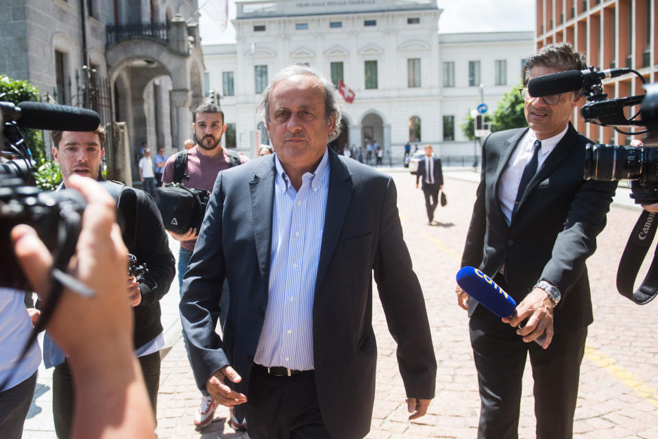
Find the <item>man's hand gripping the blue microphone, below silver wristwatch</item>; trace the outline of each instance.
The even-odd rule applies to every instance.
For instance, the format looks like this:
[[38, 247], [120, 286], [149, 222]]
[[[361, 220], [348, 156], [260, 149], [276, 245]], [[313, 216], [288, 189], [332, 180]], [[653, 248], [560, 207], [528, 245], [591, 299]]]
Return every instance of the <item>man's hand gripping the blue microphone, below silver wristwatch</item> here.
[[537, 337], [546, 333], [546, 340], [541, 347], [546, 349], [553, 338], [553, 302], [548, 294], [541, 288], [535, 288], [522, 300], [509, 318], [503, 318], [504, 323], [517, 327], [528, 319], [526, 325], [516, 331], [523, 335], [523, 341], [533, 342]]

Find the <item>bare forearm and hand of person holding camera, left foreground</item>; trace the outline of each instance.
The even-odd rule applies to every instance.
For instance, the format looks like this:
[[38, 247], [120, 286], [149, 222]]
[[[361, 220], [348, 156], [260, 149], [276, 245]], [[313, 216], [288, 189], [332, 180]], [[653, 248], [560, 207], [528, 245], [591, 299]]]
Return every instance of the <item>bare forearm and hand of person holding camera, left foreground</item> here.
[[[152, 438], [155, 419], [132, 353], [132, 316], [123, 280], [127, 250], [114, 222], [114, 201], [96, 182], [71, 176], [69, 183], [88, 202], [72, 274], [96, 294], [84, 298], [65, 288], [47, 324], [49, 334], [68, 353], [75, 377], [71, 437]], [[49, 290], [51, 255], [28, 226], [14, 227], [11, 236], [25, 276], [47, 300], [43, 295]], [[22, 305], [22, 296], [20, 301]], [[0, 425], [2, 438], [14, 438], [7, 434]]]

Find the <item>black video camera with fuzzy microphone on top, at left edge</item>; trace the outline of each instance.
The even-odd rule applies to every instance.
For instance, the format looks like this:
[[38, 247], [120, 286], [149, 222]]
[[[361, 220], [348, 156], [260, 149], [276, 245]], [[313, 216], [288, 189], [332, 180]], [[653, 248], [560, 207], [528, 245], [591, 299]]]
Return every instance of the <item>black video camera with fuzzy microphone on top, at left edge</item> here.
[[[1, 98], [1, 96], [0, 96]], [[93, 131], [100, 123], [92, 110], [70, 106], [0, 102], [0, 287], [32, 289], [12, 250], [10, 231], [16, 224], [32, 226], [53, 256], [53, 268], [66, 271], [80, 235], [86, 202], [72, 190], [40, 191], [34, 187], [34, 161], [25, 142], [24, 128]]]

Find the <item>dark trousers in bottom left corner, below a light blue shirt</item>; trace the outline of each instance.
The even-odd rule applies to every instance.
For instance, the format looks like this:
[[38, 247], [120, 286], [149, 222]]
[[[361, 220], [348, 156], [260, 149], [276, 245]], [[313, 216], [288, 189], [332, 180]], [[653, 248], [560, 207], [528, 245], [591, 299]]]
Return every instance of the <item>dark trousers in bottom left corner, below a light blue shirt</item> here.
[[36, 372], [25, 381], [0, 392], [0, 438], [21, 439], [35, 387]]

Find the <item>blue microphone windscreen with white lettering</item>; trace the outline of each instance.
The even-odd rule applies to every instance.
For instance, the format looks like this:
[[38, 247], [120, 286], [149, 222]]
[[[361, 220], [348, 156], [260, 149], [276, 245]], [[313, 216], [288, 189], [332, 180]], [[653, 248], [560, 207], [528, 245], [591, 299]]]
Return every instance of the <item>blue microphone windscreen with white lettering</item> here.
[[489, 276], [476, 268], [461, 268], [457, 272], [457, 285], [500, 318], [511, 316], [516, 309], [515, 300]]

